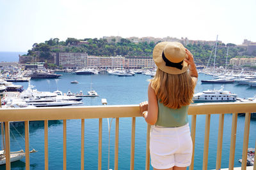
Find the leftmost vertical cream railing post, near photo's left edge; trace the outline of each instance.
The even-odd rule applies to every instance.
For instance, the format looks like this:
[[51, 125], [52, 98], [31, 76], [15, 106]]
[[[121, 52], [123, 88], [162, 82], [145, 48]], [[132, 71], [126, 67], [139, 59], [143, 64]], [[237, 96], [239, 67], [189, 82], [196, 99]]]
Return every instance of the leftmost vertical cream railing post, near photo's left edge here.
[[[5, 130], [5, 165], [6, 170], [11, 169], [11, 162], [10, 162], [10, 122], [4, 122], [4, 130]], [[2, 122], [3, 124], [3, 122]], [[3, 136], [4, 138], [4, 136]]]

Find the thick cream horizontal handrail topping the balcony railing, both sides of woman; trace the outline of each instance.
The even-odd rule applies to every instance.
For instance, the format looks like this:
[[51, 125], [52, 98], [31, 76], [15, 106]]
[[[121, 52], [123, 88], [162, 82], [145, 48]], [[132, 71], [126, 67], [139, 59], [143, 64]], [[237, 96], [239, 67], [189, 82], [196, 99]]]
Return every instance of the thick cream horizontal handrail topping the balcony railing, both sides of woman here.
[[[223, 107], [225, 106], [225, 107]], [[52, 111], [54, 110], [54, 111]], [[75, 112], [74, 112], [75, 111]], [[191, 104], [189, 115], [256, 112], [256, 102]], [[81, 118], [141, 117], [138, 104], [109, 106], [72, 106], [51, 108], [1, 108], [0, 122], [31, 120], [68, 120]]]

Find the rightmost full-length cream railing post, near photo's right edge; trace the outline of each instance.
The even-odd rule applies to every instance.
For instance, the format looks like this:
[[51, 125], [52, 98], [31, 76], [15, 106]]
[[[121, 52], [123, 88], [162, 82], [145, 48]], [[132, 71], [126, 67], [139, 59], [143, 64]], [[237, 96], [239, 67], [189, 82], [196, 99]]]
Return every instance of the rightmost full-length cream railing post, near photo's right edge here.
[[246, 169], [251, 113], [245, 113], [242, 170]]

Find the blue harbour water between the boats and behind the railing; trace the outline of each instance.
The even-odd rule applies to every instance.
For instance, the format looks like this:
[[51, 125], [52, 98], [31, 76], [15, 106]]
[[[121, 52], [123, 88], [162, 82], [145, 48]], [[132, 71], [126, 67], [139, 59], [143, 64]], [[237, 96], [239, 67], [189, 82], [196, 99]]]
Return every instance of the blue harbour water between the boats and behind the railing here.
[[[88, 90], [96, 90], [99, 97], [83, 97], [84, 106], [99, 106], [101, 99], [107, 99], [108, 105], [116, 104], [139, 104], [147, 100], [148, 79], [150, 76], [136, 74], [131, 77], [118, 77], [100, 73], [92, 76], [76, 75], [74, 73], [63, 73], [58, 79], [31, 80], [38, 91], [61, 90], [78, 93], [82, 90], [86, 93]], [[195, 92], [207, 89], [221, 89], [218, 84], [201, 84], [200, 80], [209, 80], [211, 76], [199, 74], [198, 83]], [[77, 80], [78, 84], [71, 84], [70, 81]], [[23, 85], [24, 89], [28, 87], [28, 82], [15, 83]], [[92, 84], [92, 85], [91, 85]], [[238, 97], [253, 97], [256, 94], [256, 88], [248, 86], [239, 86], [236, 84], [227, 84], [224, 90], [234, 92]], [[75, 114], [75, 113], [70, 113]], [[218, 120], [219, 115], [211, 115], [210, 142], [209, 142], [209, 159], [208, 169], [215, 169], [216, 151], [218, 143]], [[189, 124], [191, 116], [189, 116]], [[118, 169], [130, 168], [131, 152], [131, 123], [132, 118], [120, 118], [119, 127], [119, 152], [118, 152]], [[230, 152], [232, 114], [225, 114], [223, 148], [221, 167], [228, 167]], [[24, 144], [24, 127], [13, 127], [10, 125], [10, 143], [11, 150], [16, 151], [25, 149]], [[255, 147], [256, 138], [256, 120], [251, 120], [250, 136], [248, 147]], [[16, 131], [17, 129], [17, 131]], [[204, 153], [204, 131], [205, 115], [196, 117], [196, 139], [195, 139], [195, 169], [202, 169]], [[147, 124], [144, 118], [136, 118], [135, 132], [135, 159], [134, 169], [145, 169], [146, 154], [146, 137]], [[242, 158], [243, 150], [243, 133], [244, 133], [244, 116], [237, 118], [236, 134], [236, 152], [235, 167], [241, 167], [238, 162]], [[63, 122], [62, 120], [49, 121], [48, 128], [49, 142], [49, 169], [63, 169]], [[98, 140], [99, 140], [99, 121], [98, 119], [85, 120], [85, 149], [84, 149], [84, 168], [97, 169], [98, 166]], [[29, 146], [38, 150], [30, 154], [30, 169], [44, 169], [44, 122], [30, 122], [29, 124]], [[115, 159], [115, 119], [111, 127], [110, 139], [110, 168], [114, 169]], [[25, 169], [25, 158], [12, 163], [12, 169]], [[0, 166], [5, 169], [5, 166]], [[81, 120], [67, 120], [67, 169], [81, 169]], [[108, 122], [103, 119], [102, 127], [102, 169], [108, 169]], [[152, 167], [150, 167], [152, 169]]]

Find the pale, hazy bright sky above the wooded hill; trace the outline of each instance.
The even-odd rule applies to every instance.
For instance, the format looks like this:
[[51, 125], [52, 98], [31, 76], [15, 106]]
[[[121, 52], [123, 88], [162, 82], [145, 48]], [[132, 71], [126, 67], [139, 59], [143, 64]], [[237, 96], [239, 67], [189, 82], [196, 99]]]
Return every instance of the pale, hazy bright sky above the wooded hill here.
[[131, 36], [256, 42], [255, 0], [0, 0], [0, 52], [51, 38]]

